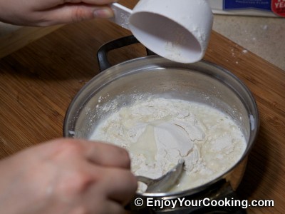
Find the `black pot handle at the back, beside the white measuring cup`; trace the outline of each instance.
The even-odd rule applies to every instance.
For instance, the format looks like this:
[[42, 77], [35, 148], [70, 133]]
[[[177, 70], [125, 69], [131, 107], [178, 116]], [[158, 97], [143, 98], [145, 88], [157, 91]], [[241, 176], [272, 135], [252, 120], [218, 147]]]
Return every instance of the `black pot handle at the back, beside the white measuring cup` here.
[[[110, 68], [111, 64], [108, 61], [108, 52], [115, 50], [115, 49], [120, 49], [125, 46], [129, 46], [132, 44], [138, 44], [140, 43], [138, 39], [135, 38], [135, 36], [130, 35], [130, 36], [125, 36], [120, 39], [115, 39], [113, 41], [109, 41], [106, 44], [103, 44], [103, 46], [100, 46], [100, 49], [97, 51], [97, 60], [99, 64], [99, 69], [101, 71], [105, 71], [107, 68]], [[149, 49], [146, 49], [147, 51], [147, 56], [149, 55], [154, 55], [152, 51]]]

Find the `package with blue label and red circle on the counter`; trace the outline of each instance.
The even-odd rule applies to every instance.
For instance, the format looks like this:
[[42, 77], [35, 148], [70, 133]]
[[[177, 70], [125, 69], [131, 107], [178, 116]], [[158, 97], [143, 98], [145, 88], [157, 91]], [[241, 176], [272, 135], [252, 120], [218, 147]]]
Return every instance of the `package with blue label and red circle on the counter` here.
[[208, 0], [214, 14], [285, 17], [285, 0]]

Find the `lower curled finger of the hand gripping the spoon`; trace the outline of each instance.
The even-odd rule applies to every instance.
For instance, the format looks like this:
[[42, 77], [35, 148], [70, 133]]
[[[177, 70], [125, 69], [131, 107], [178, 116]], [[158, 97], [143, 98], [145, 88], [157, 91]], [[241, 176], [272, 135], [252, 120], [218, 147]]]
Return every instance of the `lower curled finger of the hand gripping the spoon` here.
[[[135, 195], [138, 181], [130, 170], [120, 168], [101, 168], [101, 177], [95, 188], [100, 188], [103, 195], [126, 205]], [[97, 171], [98, 173], [98, 171]]]

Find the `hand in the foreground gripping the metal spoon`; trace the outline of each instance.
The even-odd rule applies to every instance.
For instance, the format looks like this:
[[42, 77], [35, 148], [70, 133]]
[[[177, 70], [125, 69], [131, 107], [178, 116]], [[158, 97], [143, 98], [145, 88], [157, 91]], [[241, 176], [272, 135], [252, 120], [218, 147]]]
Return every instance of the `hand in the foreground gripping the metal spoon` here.
[[124, 213], [137, 180], [123, 148], [58, 139], [0, 161], [0, 213]]

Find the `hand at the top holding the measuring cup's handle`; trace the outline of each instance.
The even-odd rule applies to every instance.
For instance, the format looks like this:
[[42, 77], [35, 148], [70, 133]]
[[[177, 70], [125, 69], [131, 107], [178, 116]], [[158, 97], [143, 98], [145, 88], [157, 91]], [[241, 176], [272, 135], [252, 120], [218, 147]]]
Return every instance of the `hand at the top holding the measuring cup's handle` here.
[[116, 0], [0, 0], [0, 21], [23, 26], [51, 26], [110, 18]]

